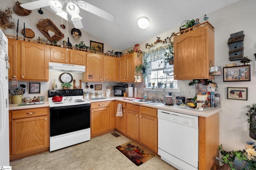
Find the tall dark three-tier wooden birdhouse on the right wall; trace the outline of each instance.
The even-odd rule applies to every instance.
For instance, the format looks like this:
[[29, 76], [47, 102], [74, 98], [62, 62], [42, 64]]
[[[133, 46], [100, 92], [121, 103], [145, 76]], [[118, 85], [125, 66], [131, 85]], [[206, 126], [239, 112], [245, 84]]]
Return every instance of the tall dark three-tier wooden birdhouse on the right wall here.
[[229, 60], [241, 60], [244, 57], [244, 31], [230, 34], [228, 39]]

